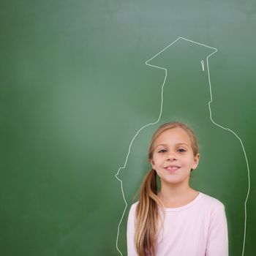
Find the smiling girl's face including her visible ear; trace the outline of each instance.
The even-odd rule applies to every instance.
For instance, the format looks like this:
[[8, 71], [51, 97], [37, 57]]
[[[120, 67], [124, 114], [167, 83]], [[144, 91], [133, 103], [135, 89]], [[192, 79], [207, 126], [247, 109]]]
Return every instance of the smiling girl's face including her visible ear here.
[[191, 169], [199, 162], [194, 156], [187, 132], [179, 127], [167, 129], [154, 141], [151, 165], [163, 184], [189, 184]]

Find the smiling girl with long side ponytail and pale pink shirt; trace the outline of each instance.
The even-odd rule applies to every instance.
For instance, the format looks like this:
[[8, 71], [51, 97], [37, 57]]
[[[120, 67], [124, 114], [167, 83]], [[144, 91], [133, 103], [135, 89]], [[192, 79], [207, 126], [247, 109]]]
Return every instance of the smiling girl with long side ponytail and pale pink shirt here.
[[192, 129], [179, 122], [163, 124], [153, 135], [148, 160], [152, 169], [140, 187], [140, 200], [129, 210], [128, 256], [228, 256], [225, 206], [189, 187], [199, 162]]

